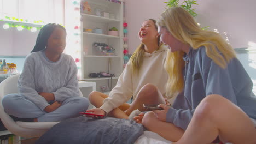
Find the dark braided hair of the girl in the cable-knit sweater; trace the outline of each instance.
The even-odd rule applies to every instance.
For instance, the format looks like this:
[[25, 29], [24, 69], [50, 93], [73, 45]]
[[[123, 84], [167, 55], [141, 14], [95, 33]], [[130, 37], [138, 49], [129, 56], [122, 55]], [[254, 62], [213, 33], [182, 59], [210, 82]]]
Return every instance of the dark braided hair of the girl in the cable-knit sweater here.
[[34, 45], [34, 49], [31, 51], [31, 53], [45, 49], [45, 46], [48, 43], [48, 39], [49, 39], [51, 33], [57, 27], [62, 28], [66, 32], [66, 29], [63, 26], [56, 24], [56, 23], [48, 23], [47, 25], [43, 26], [43, 28], [40, 29], [40, 32], [37, 35], [37, 41], [36, 41], [36, 44]]

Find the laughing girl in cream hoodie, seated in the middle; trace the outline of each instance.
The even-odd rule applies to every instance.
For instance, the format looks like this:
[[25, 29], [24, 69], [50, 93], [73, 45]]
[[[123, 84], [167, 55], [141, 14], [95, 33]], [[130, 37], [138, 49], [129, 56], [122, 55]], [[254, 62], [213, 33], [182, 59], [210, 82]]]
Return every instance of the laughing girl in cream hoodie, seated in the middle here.
[[[134, 110], [146, 111], [143, 109], [143, 103], [165, 103], [162, 95], [166, 93], [165, 85], [168, 79], [164, 69], [167, 48], [159, 43], [157, 28], [153, 19], [142, 23], [138, 33], [141, 44], [119, 76], [117, 85], [112, 89], [109, 97], [100, 92], [92, 92], [89, 100], [97, 108], [87, 112], [100, 115], [109, 113], [112, 117], [129, 118]], [[147, 88], [143, 87], [146, 84]], [[150, 88], [153, 85], [159, 87], [159, 90], [154, 91], [154, 95], [147, 94], [153, 90]], [[134, 100], [132, 104], [127, 104], [126, 101], [132, 97]], [[139, 111], [135, 112], [139, 113]], [[133, 118], [133, 115], [130, 117]]]

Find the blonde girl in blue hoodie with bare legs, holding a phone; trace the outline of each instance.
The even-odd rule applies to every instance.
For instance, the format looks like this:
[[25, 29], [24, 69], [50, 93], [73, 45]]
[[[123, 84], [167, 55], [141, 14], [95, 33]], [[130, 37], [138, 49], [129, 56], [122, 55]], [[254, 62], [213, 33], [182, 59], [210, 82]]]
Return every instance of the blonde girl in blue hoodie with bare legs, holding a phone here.
[[218, 34], [203, 31], [181, 7], [157, 22], [167, 44], [167, 97], [171, 107], [135, 117], [137, 122], [177, 143], [256, 143], [256, 97], [252, 80], [234, 49]]

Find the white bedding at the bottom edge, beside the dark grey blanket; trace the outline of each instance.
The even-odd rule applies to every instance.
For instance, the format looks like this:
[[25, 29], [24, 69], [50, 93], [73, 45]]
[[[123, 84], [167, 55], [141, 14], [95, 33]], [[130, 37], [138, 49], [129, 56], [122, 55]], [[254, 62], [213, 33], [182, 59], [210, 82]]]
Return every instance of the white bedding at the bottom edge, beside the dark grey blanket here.
[[152, 131], [144, 131], [143, 135], [141, 135], [135, 144], [170, 144], [171, 141], [168, 141], [161, 137], [160, 135], [152, 132]]

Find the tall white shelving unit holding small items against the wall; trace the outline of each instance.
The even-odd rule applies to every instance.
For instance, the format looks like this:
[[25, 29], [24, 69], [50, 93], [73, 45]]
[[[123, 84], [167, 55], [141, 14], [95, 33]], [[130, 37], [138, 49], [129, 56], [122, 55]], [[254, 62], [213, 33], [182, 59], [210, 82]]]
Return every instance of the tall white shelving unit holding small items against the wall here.
[[[113, 88], [123, 71], [123, 2], [115, 3], [106, 0], [86, 0], [91, 7], [91, 14], [81, 14], [81, 54], [82, 54], [82, 79], [95, 81], [96, 91], [101, 91], [101, 86]], [[81, 1], [81, 2], [85, 2]], [[97, 16], [95, 9], [101, 10]], [[103, 16], [103, 12], [113, 14], [114, 18]], [[116, 27], [118, 36], [108, 35], [109, 28]], [[102, 34], [86, 32], [85, 29], [102, 29]], [[94, 43], [104, 43], [113, 47], [115, 54], [103, 55], [97, 53]], [[89, 77], [90, 73], [107, 72], [114, 77]]]

